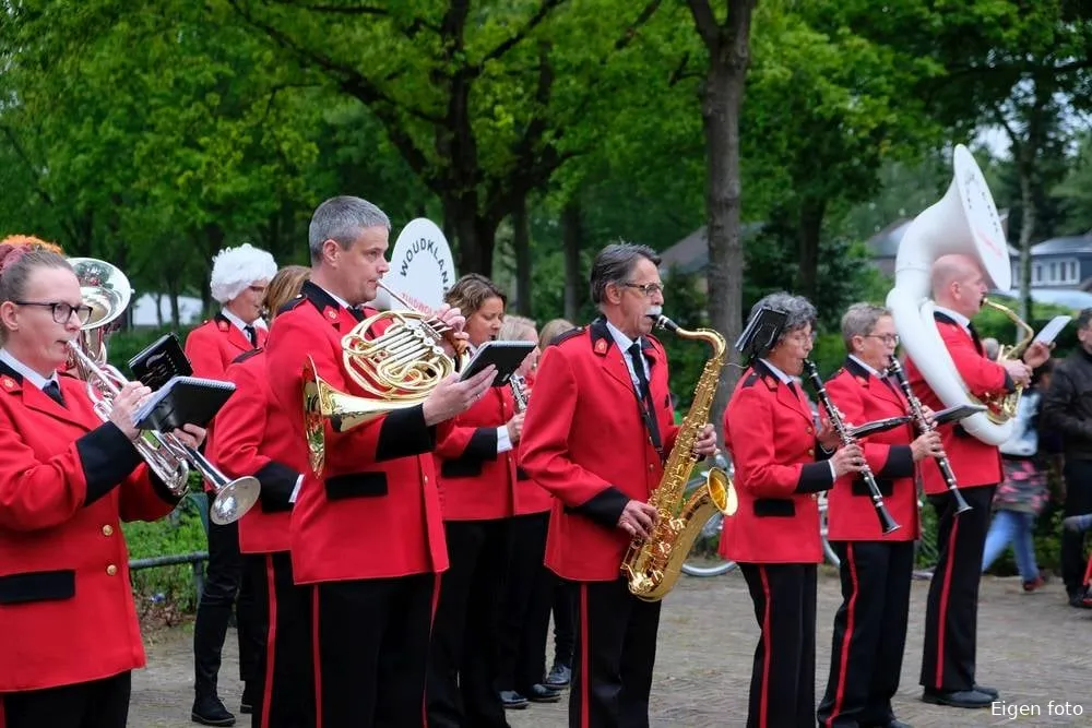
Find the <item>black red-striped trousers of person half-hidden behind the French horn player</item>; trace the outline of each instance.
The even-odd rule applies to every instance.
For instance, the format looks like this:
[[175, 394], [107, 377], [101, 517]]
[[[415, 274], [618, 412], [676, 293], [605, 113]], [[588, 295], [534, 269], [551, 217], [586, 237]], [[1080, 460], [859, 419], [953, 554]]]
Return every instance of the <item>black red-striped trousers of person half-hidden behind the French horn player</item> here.
[[311, 728], [314, 725], [311, 590], [293, 583], [287, 551], [245, 553], [242, 559], [265, 626], [251, 683], [254, 701], [251, 726]]

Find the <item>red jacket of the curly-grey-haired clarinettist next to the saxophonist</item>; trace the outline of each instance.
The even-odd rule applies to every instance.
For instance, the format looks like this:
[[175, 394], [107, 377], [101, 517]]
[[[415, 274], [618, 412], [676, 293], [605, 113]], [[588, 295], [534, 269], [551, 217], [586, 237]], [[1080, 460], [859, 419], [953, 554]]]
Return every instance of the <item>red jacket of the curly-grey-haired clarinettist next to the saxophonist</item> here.
[[[798, 386], [798, 385], [797, 385]], [[818, 492], [833, 484], [810, 407], [760, 360], [724, 414], [739, 508], [724, 520], [721, 556], [744, 563], [819, 563]]]

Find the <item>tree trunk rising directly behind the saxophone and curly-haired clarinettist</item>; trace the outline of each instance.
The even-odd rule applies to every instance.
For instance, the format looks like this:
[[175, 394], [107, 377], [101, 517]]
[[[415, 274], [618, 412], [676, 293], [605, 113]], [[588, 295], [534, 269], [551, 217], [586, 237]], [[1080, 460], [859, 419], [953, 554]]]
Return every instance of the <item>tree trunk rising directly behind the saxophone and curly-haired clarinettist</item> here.
[[[744, 252], [739, 235], [739, 112], [750, 60], [750, 19], [757, 0], [728, 0], [728, 17], [717, 24], [705, 0], [689, 0], [695, 25], [709, 48], [702, 99], [708, 175], [705, 211], [709, 236], [709, 319], [731, 345], [743, 326]], [[724, 409], [739, 378], [736, 367], [721, 371], [711, 419], [724, 421]], [[724, 433], [717, 428], [720, 439]]]

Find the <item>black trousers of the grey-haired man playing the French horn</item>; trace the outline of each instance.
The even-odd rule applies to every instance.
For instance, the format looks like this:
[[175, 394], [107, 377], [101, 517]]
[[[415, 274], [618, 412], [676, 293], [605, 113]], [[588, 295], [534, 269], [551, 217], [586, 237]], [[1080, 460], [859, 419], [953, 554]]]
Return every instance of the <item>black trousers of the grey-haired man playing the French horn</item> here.
[[318, 728], [425, 724], [437, 574], [311, 587]]

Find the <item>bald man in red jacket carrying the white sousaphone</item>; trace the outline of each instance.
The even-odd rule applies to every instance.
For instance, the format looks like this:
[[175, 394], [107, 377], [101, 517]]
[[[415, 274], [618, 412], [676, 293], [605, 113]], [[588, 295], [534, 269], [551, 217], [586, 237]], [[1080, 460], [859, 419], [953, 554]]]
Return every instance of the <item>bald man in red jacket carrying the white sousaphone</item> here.
[[[1051, 355], [1046, 345], [1035, 342], [1023, 361], [997, 363], [987, 359], [971, 325], [986, 290], [982, 267], [973, 258], [945, 255], [933, 265], [937, 331], [959, 375], [980, 399], [1012, 392], [1018, 383], [1029, 384], [1032, 368]], [[935, 410], [943, 407], [913, 361], [906, 361], [906, 375], [922, 404]], [[1001, 479], [1001, 458], [996, 445], [971, 437], [959, 425], [941, 426], [938, 430], [956, 481], [971, 510], [957, 516], [954, 499], [936, 461], [922, 463], [925, 492], [937, 512], [939, 551], [925, 614], [922, 700], [954, 707], [986, 707], [998, 694], [993, 688], [975, 683], [978, 578], [989, 504]]]

